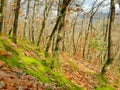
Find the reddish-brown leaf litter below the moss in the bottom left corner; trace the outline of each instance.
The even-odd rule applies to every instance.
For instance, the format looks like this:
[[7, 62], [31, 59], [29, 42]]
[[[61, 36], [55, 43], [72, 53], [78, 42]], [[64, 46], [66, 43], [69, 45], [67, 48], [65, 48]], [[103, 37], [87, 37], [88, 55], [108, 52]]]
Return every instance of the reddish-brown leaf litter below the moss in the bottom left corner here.
[[26, 75], [21, 69], [8, 67], [3, 61], [0, 67], [0, 90], [45, 90], [37, 78]]

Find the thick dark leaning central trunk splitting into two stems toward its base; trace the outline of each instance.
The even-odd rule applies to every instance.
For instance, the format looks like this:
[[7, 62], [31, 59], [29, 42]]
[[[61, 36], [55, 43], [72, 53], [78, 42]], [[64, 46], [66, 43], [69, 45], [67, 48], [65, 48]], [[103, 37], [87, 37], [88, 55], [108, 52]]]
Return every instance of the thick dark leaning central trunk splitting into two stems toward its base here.
[[51, 46], [51, 42], [53, 40], [52, 38], [55, 36], [55, 33], [57, 33], [55, 36], [55, 47], [54, 47], [54, 49], [52, 49], [53, 50], [52, 52], [54, 52], [54, 55], [58, 54], [59, 43], [61, 40], [61, 30], [64, 26], [65, 12], [66, 12], [67, 6], [69, 5], [70, 2], [71, 2], [71, 0], [59, 0], [57, 21], [56, 21], [56, 24], [53, 28], [51, 35], [50, 35], [50, 38], [48, 40], [45, 52], [48, 52], [48, 50]]

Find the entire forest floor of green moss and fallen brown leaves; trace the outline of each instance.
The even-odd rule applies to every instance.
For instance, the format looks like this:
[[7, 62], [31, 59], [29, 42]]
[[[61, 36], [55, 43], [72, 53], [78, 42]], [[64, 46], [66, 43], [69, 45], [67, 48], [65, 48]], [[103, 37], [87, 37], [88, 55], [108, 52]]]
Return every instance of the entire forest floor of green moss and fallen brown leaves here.
[[[54, 63], [53, 63], [54, 62]], [[60, 67], [55, 58], [45, 58], [38, 47], [9, 37], [0, 37], [0, 90], [119, 90], [119, 78], [112, 71], [109, 83], [99, 76], [100, 67], [61, 54]], [[52, 67], [54, 65], [54, 67]], [[52, 67], [52, 68], [51, 68]]]

